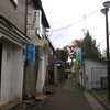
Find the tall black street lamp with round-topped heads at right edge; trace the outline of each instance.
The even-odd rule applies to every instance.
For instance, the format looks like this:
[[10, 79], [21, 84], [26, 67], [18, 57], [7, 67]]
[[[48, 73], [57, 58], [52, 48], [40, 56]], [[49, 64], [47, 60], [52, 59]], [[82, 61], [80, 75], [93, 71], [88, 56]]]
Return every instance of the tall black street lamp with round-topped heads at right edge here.
[[106, 14], [106, 34], [107, 34], [107, 64], [108, 64], [108, 100], [110, 101], [110, 64], [109, 64], [109, 26], [108, 26], [108, 11], [110, 8], [110, 1], [103, 3], [105, 9], [101, 9], [101, 12]]

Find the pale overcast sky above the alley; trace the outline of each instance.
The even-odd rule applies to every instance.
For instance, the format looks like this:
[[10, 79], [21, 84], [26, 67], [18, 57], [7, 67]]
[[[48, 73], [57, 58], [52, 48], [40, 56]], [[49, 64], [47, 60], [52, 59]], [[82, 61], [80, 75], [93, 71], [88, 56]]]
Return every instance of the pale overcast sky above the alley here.
[[54, 47], [62, 48], [75, 40], [81, 40], [89, 30], [99, 50], [105, 50], [106, 15], [100, 12], [105, 8], [103, 2], [105, 0], [42, 0], [51, 25], [48, 37]]

